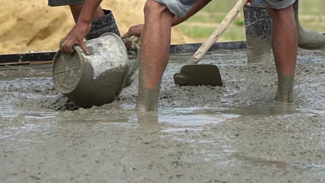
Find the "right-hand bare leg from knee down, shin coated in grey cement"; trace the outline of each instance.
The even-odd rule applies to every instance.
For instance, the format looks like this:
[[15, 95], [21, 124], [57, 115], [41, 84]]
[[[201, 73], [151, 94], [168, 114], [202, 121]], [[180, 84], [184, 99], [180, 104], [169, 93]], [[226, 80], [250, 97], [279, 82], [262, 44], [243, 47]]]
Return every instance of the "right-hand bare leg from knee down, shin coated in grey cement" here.
[[272, 16], [272, 49], [278, 73], [275, 101], [293, 103], [298, 34], [293, 6], [285, 9], [269, 8]]

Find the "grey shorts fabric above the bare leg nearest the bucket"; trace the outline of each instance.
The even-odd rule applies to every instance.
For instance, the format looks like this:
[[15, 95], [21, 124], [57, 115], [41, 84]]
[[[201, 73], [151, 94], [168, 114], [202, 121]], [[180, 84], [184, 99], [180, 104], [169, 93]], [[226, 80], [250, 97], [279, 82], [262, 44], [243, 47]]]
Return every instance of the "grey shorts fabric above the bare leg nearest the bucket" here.
[[175, 16], [186, 15], [189, 9], [199, 0], [154, 0], [157, 3], [165, 5]]

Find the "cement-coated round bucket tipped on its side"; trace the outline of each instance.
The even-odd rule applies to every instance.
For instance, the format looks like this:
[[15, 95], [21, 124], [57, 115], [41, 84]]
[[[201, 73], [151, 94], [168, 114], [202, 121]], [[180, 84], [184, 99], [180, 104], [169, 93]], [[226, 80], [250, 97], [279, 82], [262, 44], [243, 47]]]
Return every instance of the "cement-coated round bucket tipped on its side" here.
[[[130, 62], [123, 41], [113, 33], [85, 42], [90, 55], [58, 51], [53, 58], [55, 88], [83, 108], [111, 103], [122, 92]], [[133, 69], [134, 70], [134, 69]]]

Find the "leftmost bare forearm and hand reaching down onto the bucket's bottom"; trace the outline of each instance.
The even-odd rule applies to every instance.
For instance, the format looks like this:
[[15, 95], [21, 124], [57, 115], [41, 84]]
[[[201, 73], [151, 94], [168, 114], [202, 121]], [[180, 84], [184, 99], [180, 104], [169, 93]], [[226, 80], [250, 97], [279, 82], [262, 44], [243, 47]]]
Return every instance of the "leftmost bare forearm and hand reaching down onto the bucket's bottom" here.
[[102, 0], [85, 0], [75, 26], [68, 35], [60, 41], [60, 50], [63, 53], [73, 53], [75, 51], [73, 46], [79, 45], [86, 54], [90, 54], [83, 39], [89, 33], [92, 15], [100, 6], [101, 2]]

